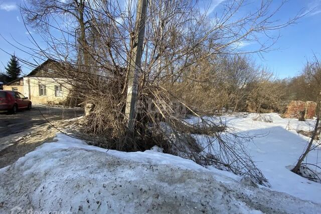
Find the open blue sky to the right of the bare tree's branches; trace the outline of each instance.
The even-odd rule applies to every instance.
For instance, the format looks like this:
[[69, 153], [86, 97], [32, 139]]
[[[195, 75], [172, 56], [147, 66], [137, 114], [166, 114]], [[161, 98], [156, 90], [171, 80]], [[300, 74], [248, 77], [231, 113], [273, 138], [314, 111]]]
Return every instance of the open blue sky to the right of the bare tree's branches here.
[[311, 12], [297, 24], [280, 30], [281, 38], [274, 47], [279, 49], [264, 54], [264, 60], [255, 57], [257, 63], [269, 67], [279, 78], [297, 75], [313, 53], [321, 57], [321, 1], [290, 0], [280, 19], [287, 19], [300, 9]]

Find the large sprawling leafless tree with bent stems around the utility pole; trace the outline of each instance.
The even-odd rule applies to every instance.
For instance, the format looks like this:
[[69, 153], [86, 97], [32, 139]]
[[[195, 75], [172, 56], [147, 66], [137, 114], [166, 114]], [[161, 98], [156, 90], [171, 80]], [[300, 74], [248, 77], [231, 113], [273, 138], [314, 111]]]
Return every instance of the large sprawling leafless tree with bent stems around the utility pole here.
[[[137, 31], [141, 25], [135, 24], [140, 17], [136, 8], [140, 9], [140, 5], [131, 0], [30, 0], [23, 13], [27, 24], [38, 29], [48, 46], [41, 48], [35, 41], [37, 48], [32, 49], [35, 50], [33, 55], [70, 65], [59, 75], [73, 86], [74, 95], [85, 103], [94, 104], [88, 116], [87, 131], [98, 136], [97, 145], [132, 151], [157, 144], [167, 152], [201, 164], [222, 164], [264, 183], [266, 179], [244, 149], [234, 151], [234, 144], [241, 145], [239, 139], [243, 138], [222, 132], [223, 124], [219, 121], [213, 123], [201, 118], [202, 125], [187, 124], [176, 115], [174, 102], [196, 116], [200, 114], [178, 99], [169, 86], [186, 81], [197, 83], [199, 65], [211, 64], [211, 60], [219, 60], [220, 55], [245, 53], [238, 48], [244, 42], [259, 45], [251, 53], [271, 50], [278, 39], [273, 36], [274, 32], [294, 24], [301, 16], [297, 14], [283, 23], [274, 21], [284, 3], [273, 9], [271, 1], [262, 0], [256, 10], [243, 14], [241, 8], [246, 1], [226, 1], [220, 5], [220, 13], [208, 16], [207, 10], [200, 10], [196, 1], [149, 1], [146, 15], [140, 20], [145, 32]], [[133, 68], [133, 56], [137, 56], [135, 48], [140, 47], [140, 41], [136, 41], [137, 32], [144, 33], [144, 37], [141, 62], [137, 63], [140, 57], [136, 57]], [[259, 39], [263, 35], [267, 37]], [[37, 55], [39, 51], [41, 56]], [[126, 119], [126, 100], [128, 85], [134, 85], [129, 83], [133, 70], [137, 75], [138, 98], [137, 103], [130, 106], [137, 108], [132, 129]], [[229, 81], [234, 82], [231, 74]], [[231, 91], [244, 87], [243, 80], [233, 84]], [[183, 93], [188, 94], [188, 90], [186, 88]], [[236, 94], [233, 99], [239, 100], [239, 97]], [[196, 141], [191, 136], [191, 130], [195, 129], [207, 130], [211, 140]], [[128, 130], [134, 130], [132, 137], [128, 138]], [[210, 150], [205, 152], [206, 148]], [[216, 148], [219, 149], [214, 151]], [[205, 155], [215, 152], [221, 157]]]

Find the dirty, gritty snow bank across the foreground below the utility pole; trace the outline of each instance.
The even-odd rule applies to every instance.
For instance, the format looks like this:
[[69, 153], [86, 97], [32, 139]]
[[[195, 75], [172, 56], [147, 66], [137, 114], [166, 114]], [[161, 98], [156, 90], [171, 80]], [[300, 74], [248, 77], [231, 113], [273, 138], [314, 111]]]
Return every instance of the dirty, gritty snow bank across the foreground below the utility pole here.
[[156, 148], [126, 153], [56, 140], [0, 169], [1, 213], [321, 213], [321, 204]]

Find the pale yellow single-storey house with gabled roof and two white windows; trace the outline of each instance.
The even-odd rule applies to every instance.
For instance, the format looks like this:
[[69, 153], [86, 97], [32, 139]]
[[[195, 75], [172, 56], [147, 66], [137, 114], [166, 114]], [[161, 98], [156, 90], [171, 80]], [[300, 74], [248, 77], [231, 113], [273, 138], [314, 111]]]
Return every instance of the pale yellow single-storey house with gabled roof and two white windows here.
[[63, 63], [47, 60], [30, 74], [3, 85], [4, 90], [18, 91], [34, 104], [58, 104], [68, 97], [71, 89]]

